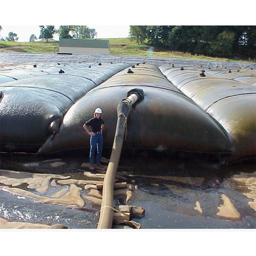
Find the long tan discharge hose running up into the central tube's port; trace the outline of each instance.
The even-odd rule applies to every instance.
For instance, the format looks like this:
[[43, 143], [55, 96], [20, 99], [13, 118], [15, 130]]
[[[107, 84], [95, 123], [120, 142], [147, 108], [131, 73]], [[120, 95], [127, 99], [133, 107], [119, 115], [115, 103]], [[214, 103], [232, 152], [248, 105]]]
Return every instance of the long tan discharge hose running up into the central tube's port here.
[[100, 216], [98, 222], [98, 229], [110, 229], [112, 228], [113, 216], [114, 216], [114, 183], [115, 175], [118, 167], [123, 136], [126, 129], [127, 117], [130, 114], [132, 105], [137, 101], [144, 98], [144, 92], [142, 89], [132, 89], [127, 92], [127, 98], [123, 99], [117, 106], [117, 125], [115, 139], [112, 147], [112, 153], [108, 168], [106, 169], [106, 175], [103, 181], [102, 189], [102, 203], [100, 208]]

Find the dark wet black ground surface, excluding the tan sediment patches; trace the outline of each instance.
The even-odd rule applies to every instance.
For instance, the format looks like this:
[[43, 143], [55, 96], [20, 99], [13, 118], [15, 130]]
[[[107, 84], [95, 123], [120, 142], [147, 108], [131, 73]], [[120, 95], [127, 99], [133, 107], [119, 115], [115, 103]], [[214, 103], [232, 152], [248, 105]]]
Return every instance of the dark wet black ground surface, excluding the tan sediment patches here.
[[[105, 157], [108, 158], [108, 154]], [[88, 161], [87, 152], [47, 156], [3, 154], [0, 167], [79, 179], [84, 170], [92, 172], [83, 165]], [[121, 156], [117, 174], [119, 181], [138, 185], [127, 204], [145, 208], [143, 218], [133, 219], [141, 224], [141, 229], [256, 228], [256, 212], [249, 205], [253, 199], [244, 195], [250, 193], [255, 182], [255, 160], [220, 166], [218, 161], [205, 156], [154, 157], [154, 154], [137, 152], [132, 156]], [[236, 177], [254, 180], [250, 179], [248, 185], [236, 181]], [[223, 194], [230, 199], [240, 218], [217, 215], [218, 207], [223, 204]], [[0, 190], [0, 200], [0, 217], [10, 221], [63, 224], [77, 229], [97, 227], [100, 207], [91, 203], [82, 210], [70, 209], [35, 203], [32, 199], [17, 197], [3, 190]], [[202, 212], [195, 209], [197, 202]]]

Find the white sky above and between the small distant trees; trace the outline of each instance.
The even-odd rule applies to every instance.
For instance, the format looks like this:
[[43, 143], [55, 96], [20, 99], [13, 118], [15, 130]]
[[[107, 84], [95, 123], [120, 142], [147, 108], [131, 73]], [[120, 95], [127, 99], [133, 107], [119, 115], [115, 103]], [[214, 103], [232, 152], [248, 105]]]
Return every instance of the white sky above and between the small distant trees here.
[[[42, 25], [3, 25], [0, 31], [0, 37], [8, 37], [9, 32], [17, 34], [19, 42], [28, 42], [32, 34], [35, 34], [39, 38], [40, 28]], [[51, 25], [51, 24], [48, 24]], [[84, 24], [82, 24], [84, 25]], [[45, 25], [47, 26], [47, 25]], [[59, 28], [59, 25], [54, 25], [55, 28]], [[96, 38], [125, 38], [129, 36], [130, 26], [128, 25], [90, 25], [85, 24], [90, 29], [95, 29], [97, 32]], [[55, 40], [59, 40], [59, 35], [55, 35]]]

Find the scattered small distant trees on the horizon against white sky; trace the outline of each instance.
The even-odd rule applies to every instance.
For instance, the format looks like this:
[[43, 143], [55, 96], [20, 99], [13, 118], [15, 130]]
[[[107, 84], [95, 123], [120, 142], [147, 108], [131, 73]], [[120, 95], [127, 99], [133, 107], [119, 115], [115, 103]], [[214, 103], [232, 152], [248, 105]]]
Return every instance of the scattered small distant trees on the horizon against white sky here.
[[[40, 28], [40, 35], [39, 39], [46, 39], [48, 42], [48, 39], [53, 38], [55, 34], [59, 35], [60, 38], [77, 38], [77, 39], [86, 39], [91, 38], [93, 39], [95, 36], [97, 36], [97, 32], [95, 29], [90, 29], [88, 26], [60, 26], [59, 29], [55, 29], [53, 25], [50, 26], [39, 26]], [[2, 26], [0, 26], [0, 32], [2, 30]], [[32, 34], [30, 36], [29, 41], [36, 40], [37, 37]], [[10, 32], [8, 34], [8, 37], [5, 39], [2, 37], [0, 40], [2, 41], [17, 41], [18, 37], [16, 33]]]

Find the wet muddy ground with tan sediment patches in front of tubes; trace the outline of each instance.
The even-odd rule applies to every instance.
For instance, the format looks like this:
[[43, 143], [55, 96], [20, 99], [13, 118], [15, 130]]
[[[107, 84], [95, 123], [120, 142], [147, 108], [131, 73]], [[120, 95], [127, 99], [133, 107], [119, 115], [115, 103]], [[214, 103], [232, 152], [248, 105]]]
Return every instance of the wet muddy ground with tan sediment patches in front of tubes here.
[[[0, 227], [95, 229], [100, 205], [89, 200], [84, 172], [105, 171], [90, 170], [88, 160], [79, 154], [1, 156]], [[121, 195], [115, 205], [143, 207], [144, 217], [133, 218], [141, 229], [256, 228], [255, 161], [220, 167], [204, 159], [121, 157], [117, 176], [133, 189], [129, 200]]]

